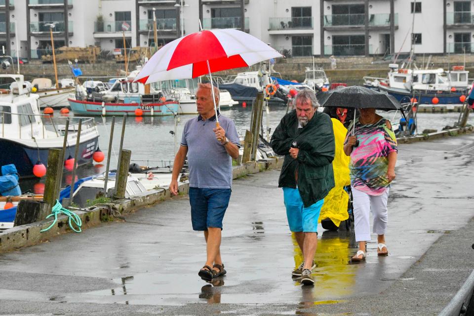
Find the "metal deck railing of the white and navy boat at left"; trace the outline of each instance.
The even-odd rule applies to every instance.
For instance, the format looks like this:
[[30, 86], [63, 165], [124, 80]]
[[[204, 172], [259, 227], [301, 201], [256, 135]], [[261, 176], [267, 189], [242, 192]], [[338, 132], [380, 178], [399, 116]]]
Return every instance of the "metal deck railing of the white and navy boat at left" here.
[[[29, 135], [30, 137], [33, 137], [33, 125], [37, 122], [35, 117], [40, 117], [41, 122], [42, 122], [42, 138], [45, 138], [47, 136], [46, 131], [50, 131], [56, 134], [56, 137], [64, 136], [64, 127], [66, 126], [66, 120], [69, 119], [69, 131], [78, 131], [78, 123], [79, 119], [82, 119], [82, 131], [85, 133], [87, 129], [94, 127], [94, 118], [82, 118], [82, 117], [72, 117], [72, 118], [53, 118], [49, 115], [44, 115], [44, 114], [20, 114], [20, 113], [10, 113], [10, 112], [0, 112], [0, 117], [1, 117], [1, 137], [5, 137], [5, 125], [10, 125], [11, 124], [11, 116], [15, 115], [18, 117], [27, 117], [27, 122], [28, 124], [23, 124], [21, 125], [20, 123], [18, 124], [18, 135], [19, 139], [22, 139], [21, 136], [21, 131], [22, 127], [23, 130], [25, 126], [30, 127], [30, 132], [31, 134]], [[5, 123], [5, 118], [8, 119], [8, 123]], [[76, 123], [74, 121], [77, 121]], [[63, 123], [62, 123], [63, 122]], [[63, 125], [61, 125], [62, 123]], [[85, 124], [85, 125], [84, 125]], [[85, 126], [85, 128], [84, 128]], [[8, 128], [9, 126], [7, 126]], [[63, 127], [61, 129], [60, 127]], [[82, 133], [82, 132], [81, 132]], [[46, 137], [47, 138], [47, 137]]]

